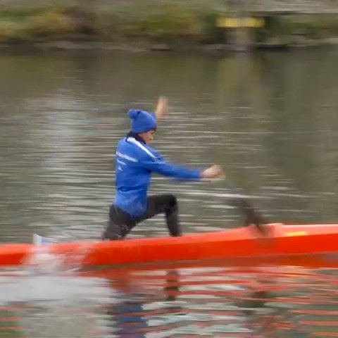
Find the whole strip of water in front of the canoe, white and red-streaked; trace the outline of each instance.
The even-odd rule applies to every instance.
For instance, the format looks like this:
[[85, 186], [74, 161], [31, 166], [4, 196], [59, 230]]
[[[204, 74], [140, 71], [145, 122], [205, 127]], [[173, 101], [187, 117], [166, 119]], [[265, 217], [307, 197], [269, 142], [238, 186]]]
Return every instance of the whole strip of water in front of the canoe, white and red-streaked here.
[[3, 270], [0, 335], [334, 337], [337, 269], [296, 262]]

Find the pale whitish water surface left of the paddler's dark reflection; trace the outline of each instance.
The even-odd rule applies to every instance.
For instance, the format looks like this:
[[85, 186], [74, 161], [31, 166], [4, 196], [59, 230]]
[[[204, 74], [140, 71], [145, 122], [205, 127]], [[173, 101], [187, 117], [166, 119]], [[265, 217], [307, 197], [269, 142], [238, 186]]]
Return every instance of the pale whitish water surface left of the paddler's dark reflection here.
[[118, 294], [100, 278], [1, 273], [0, 337], [102, 337], [100, 308]]

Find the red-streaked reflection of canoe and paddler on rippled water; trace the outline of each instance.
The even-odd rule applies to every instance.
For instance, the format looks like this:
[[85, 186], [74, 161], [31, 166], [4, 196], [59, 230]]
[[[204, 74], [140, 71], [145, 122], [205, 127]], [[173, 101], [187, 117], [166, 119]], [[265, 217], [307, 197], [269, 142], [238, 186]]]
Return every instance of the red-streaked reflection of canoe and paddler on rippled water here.
[[337, 287], [336, 273], [295, 266], [106, 270], [126, 297], [107, 308], [109, 327], [113, 337], [312, 337], [330, 323], [330, 335], [338, 322], [321, 323], [321, 316], [337, 311], [317, 310], [313, 318], [313, 308], [332, 303], [323, 289]]

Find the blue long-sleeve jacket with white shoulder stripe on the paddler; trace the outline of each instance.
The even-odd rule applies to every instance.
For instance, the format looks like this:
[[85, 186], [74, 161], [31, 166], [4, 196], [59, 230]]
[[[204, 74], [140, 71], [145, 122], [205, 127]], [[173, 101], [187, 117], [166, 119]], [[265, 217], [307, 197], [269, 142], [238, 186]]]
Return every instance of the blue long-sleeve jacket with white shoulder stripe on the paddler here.
[[178, 180], [201, 178], [200, 170], [169, 163], [137, 137], [123, 137], [116, 149], [113, 204], [132, 216], [142, 215], [146, 211], [146, 196], [153, 172]]

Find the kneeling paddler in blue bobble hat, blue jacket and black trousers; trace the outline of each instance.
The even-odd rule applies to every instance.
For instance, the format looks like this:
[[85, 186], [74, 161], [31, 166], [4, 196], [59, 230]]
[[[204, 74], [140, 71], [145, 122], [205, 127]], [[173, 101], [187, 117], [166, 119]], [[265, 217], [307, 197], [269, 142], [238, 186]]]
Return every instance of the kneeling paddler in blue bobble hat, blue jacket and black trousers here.
[[147, 196], [151, 173], [155, 172], [179, 180], [200, 180], [222, 174], [219, 165], [201, 171], [165, 161], [148, 143], [154, 139], [157, 119], [167, 111], [167, 101], [160, 97], [156, 113], [130, 109], [130, 132], [120, 139], [115, 158], [115, 201], [109, 209], [109, 221], [102, 239], [122, 239], [137, 223], [165, 213], [168, 230], [180, 236], [177, 199], [172, 194]]

